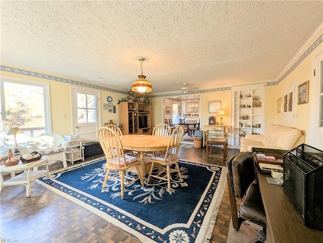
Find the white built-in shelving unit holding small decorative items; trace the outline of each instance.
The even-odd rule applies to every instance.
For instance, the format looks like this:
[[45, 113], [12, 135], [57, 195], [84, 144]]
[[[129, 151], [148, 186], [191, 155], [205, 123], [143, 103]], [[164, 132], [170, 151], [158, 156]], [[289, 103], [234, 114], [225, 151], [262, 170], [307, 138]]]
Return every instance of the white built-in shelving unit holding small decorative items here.
[[246, 134], [263, 134], [265, 128], [265, 84], [232, 88], [231, 145], [240, 148]]

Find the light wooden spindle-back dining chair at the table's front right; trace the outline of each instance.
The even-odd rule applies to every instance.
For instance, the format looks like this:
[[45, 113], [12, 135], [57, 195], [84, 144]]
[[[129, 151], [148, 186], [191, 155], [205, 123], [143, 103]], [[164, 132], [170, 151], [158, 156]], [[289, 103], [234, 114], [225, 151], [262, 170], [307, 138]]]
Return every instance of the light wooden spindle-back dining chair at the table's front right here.
[[[182, 179], [182, 174], [178, 166], [178, 161], [179, 161], [178, 151], [180, 149], [184, 132], [185, 132], [184, 126], [178, 125], [170, 136], [167, 150], [160, 152], [158, 154], [155, 154], [151, 157], [151, 160], [150, 160], [151, 167], [147, 178], [147, 183], [150, 181], [150, 177], [158, 178], [160, 180], [166, 180], [168, 182], [167, 191], [169, 193], [172, 193], [171, 173], [177, 172], [180, 179]], [[155, 168], [155, 164], [159, 164], [163, 166], [163, 168], [158, 170], [157, 174], [152, 174], [152, 171]], [[175, 169], [170, 168], [171, 165], [175, 165]]]

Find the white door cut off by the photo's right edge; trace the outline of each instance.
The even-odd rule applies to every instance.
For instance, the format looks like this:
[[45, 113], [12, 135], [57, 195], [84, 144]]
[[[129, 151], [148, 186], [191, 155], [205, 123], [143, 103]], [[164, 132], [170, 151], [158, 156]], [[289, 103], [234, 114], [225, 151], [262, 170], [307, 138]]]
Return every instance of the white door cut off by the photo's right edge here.
[[313, 147], [323, 150], [323, 51], [313, 57], [313, 70], [309, 140]]

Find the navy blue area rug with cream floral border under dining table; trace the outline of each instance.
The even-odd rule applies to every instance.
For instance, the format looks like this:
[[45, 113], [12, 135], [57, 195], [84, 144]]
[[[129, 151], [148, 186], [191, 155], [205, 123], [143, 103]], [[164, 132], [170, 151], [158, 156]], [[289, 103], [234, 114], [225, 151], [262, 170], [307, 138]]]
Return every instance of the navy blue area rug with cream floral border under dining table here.
[[[225, 188], [227, 169], [221, 166], [180, 161], [182, 180], [172, 175], [167, 181], [151, 178], [125, 187], [109, 180], [102, 190], [105, 160], [81, 165], [47, 176], [37, 182], [98, 216], [133, 234], [142, 242], [208, 242]], [[129, 177], [136, 174], [128, 172]]]

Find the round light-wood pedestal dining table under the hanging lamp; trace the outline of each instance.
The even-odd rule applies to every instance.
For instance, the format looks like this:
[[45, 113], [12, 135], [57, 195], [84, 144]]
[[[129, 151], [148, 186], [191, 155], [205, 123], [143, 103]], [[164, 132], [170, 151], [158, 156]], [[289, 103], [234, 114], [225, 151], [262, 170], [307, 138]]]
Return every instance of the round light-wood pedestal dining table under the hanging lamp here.
[[146, 174], [150, 170], [151, 156], [147, 152], [158, 152], [167, 150], [169, 144], [168, 136], [156, 136], [148, 134], [122, 135], [121, 142], [123, 149], [140, 153], [140, 173]]

